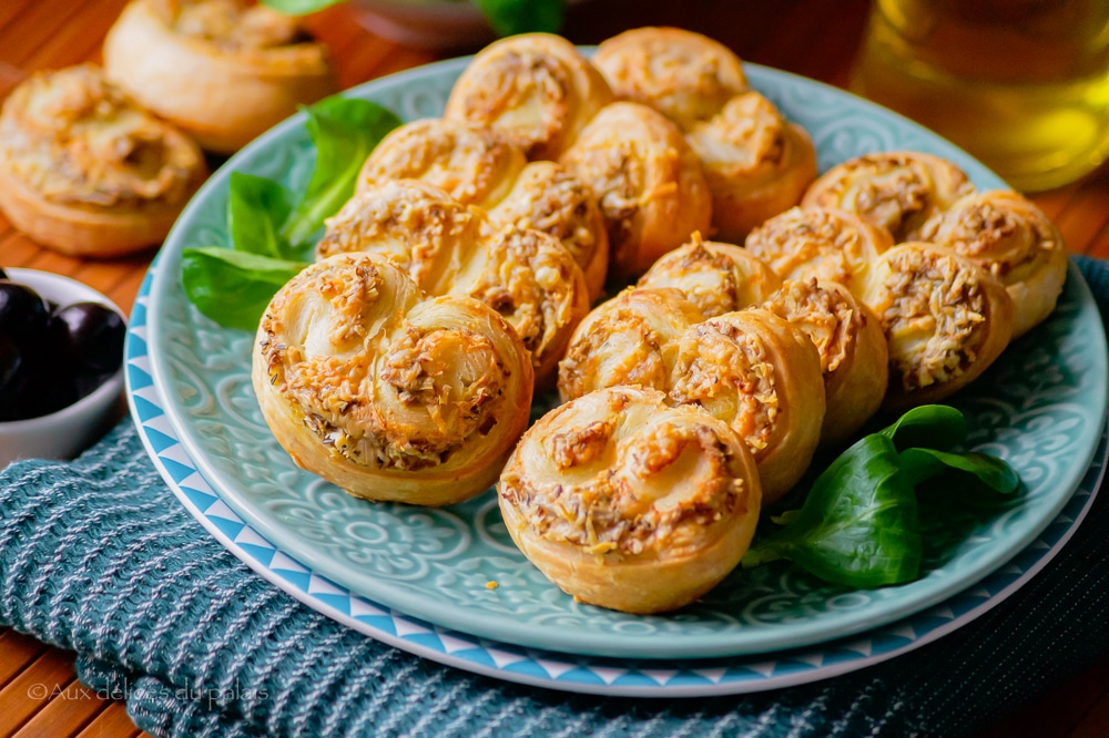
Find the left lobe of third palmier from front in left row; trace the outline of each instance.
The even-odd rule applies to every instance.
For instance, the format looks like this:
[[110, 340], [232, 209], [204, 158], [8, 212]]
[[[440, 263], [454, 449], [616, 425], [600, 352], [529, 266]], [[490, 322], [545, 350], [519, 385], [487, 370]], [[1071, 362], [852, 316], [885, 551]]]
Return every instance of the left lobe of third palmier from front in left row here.
[[522, 150], [489, 129], [424, 119], [393, 130], [377, 144], [356, 191], [387, 180], [421, 180], [465, 205], [489, 209], [511, 191], [526, 164]]

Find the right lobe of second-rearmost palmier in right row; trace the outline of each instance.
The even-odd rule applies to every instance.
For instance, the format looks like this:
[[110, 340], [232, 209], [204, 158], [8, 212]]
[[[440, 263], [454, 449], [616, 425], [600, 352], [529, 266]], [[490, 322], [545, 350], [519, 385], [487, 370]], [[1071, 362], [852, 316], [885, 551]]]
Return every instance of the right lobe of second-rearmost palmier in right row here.
[[889, 348], [887, 410], [949, 397], [985, 371], [1013, 334], [1005, 286], [934, 244], [909, 242], [883, 254], [864, 299], [882, 320]]

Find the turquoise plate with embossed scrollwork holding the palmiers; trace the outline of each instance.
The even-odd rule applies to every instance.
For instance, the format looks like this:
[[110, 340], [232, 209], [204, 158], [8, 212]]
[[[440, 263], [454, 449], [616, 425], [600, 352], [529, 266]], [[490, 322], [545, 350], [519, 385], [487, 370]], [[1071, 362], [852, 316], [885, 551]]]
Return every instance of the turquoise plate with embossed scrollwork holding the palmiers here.
[[[466, 60], [379, 80], [349, 94], [405, 119], [437, 115]], [[1004, 184], [928, 131], [833, 88], [751, 66], [752, 84], [804, 125], [820, 163], [913, 148]], [[1009, 460], [1024, 490], [937, 523], [925, 576], [876, 591], [822, 584], [787, 566], [733, 574], [680, 613], [640, 617], [574, 603], [513, 547], [491, 493], [425, 510], [355, 500], [295, 467], [262, 421], [250, 383], [253, 336], [201, 316], [180, 284], [181, 250], [227, 243], [232, 170], [303, 187], [312, 147], [303, 117], [277, 126], [203, 187], [160, 255], [150, 290], [153, 381], [187, 455], [253, 530], [313, 572], [387, 607], [502, 643], [633, 658], [701, 658], [796, 648], [892, 623], [981, 580], [1056, 516], [1092, 458], [1106, 409], [1107, 355], [1089, 289], [1071, 270], [1059, 309], [957, 398], [971, 445]], [[486, 583], [495, 581], [490, 590]]]

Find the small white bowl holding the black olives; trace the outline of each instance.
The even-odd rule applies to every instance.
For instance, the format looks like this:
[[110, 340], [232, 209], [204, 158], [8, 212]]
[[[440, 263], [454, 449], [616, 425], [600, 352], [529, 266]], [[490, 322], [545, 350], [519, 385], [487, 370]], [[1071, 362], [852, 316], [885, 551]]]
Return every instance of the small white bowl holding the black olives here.
[[[75, 279], [35, 269], [6, 269], [43, 299], [58, 305], [102, 303], [124, 319], [118, 305]], [[0, 469], [18, 459], [72, 459], [100, 438], [122, 414], [123, 366], [73, 404], [49, 416], [0, 422]]]

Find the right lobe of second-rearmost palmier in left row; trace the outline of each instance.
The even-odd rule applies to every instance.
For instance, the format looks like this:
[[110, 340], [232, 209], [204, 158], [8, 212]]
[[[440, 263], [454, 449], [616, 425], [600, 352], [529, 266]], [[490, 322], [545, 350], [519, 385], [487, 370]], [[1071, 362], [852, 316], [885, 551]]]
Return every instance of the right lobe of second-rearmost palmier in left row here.
[[640, 275], [712, 216], [701, 164], [661, 113], [638, 103], [608, 105], [562, 162], [597, 194], [618, 277]]

